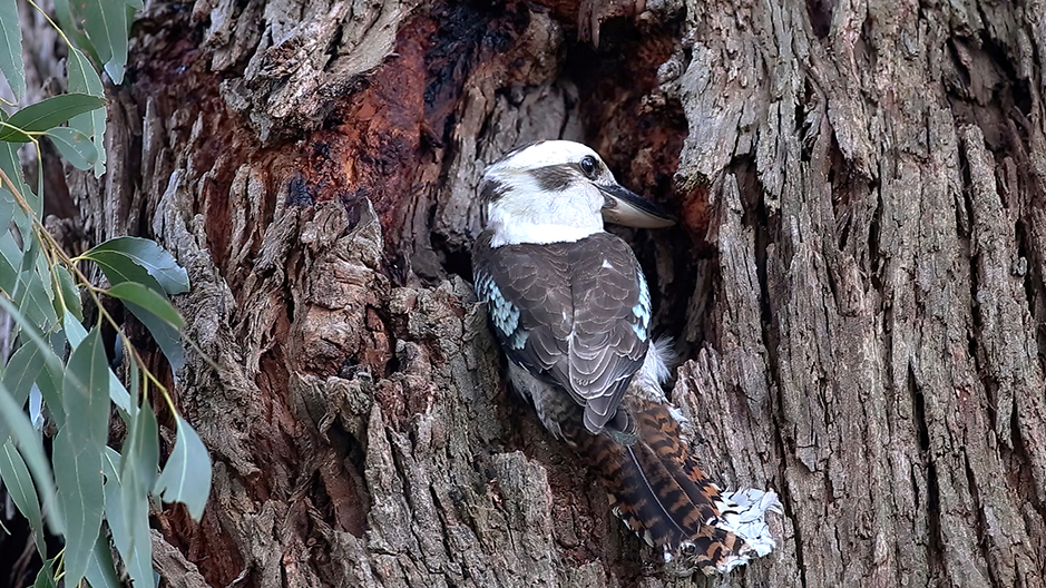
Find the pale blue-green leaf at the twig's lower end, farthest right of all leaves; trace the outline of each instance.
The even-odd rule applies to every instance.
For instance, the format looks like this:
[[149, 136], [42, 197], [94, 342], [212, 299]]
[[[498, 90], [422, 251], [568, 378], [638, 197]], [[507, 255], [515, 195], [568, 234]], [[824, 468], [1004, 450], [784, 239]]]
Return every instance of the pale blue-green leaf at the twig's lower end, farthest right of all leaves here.
[[204, 513], [211, 493], [211, 457], [196, 431], [178, 418], [178, 440], [167, 458], [164, 471], [156, 479], [153, 493], [166, 502], [182, 502], [195, 520]]

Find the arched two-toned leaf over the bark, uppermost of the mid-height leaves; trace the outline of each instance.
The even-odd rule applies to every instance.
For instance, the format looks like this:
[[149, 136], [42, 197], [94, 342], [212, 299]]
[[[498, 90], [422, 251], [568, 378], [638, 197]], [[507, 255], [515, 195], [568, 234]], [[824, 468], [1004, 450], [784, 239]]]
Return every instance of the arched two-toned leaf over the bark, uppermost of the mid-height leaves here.
[[139, 237], [117, 237], [82, 255], [97, 263], [109, 283], [138, 282], [151, 287], [153, 280], [167, 294], [182, 294], [189, 290], [189, 277], [174, 256], [155, 242]]

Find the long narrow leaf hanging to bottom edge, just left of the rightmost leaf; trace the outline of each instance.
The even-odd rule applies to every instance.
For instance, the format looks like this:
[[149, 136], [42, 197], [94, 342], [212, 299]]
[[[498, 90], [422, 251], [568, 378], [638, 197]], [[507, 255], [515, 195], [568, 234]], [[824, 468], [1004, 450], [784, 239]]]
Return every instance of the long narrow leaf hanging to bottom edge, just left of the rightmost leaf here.
[[[159, 432], [148, 402], [135, 412], [130, 437], [124, 442], [120, 463], [120, 503], [125, 541], [116, 541], [135, 587], [153, 586], [151, 539], [149, 537], [149, 490], [159, 471]], [[108, 496], [108, 494], [107, 494]], [[111, 513], [111, 510], [109, 511]], [[114, 526], [111, 514], [110, 527]], [[114, 538], [116, 533], [114, 532]], [[123, 543], [123, 546], [121, 546]]]

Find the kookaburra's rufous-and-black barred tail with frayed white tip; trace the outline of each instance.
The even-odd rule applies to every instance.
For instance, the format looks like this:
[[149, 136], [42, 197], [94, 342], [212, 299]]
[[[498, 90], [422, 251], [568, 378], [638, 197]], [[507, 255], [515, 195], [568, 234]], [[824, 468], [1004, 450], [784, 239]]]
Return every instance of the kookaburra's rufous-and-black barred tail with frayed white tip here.
[[615, 514], [680, 574], [725, 574], [769, 553], [774, 542], [764, 513], [780, 512], [776, 494], [721, 493], [681, 442], [668, 406], [633, 413], [638, 439], [629, 447], [606, 434], [569, 435], [603, 473]]

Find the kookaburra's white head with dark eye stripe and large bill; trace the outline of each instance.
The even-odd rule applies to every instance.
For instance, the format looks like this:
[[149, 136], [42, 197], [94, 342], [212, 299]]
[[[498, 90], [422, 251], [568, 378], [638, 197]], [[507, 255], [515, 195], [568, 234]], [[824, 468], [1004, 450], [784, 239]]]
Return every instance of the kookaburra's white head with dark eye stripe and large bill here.
[[599, 155], [579, 143], [539, 141], [487, 168], [480, 184], [491, 246], [575, 242], [607, 220], [656, 228], [675, 220], [622, 187]]

